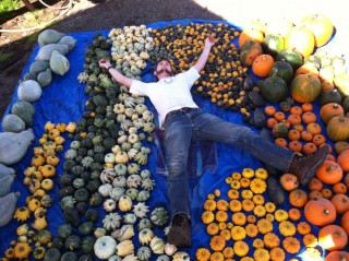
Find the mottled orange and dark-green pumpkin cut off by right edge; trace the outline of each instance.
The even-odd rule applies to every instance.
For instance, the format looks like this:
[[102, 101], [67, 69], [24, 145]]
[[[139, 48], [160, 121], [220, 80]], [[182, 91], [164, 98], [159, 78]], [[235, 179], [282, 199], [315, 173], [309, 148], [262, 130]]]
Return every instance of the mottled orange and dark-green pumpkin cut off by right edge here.
[[333, 117], [326, 129], [332, 141], [345, 141], [349, 138], [349, 119], [344, 115]]

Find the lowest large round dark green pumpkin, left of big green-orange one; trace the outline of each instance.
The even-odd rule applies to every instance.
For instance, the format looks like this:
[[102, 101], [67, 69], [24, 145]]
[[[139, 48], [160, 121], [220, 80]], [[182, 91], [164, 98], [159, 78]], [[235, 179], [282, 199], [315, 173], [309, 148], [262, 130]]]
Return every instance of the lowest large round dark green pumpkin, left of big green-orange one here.
[[279, 76], [277, 72], [266, 78], [262, 83], [261, 94], [270, 103], [279, 103], [287, 97], [288, 86], [287, 83]]

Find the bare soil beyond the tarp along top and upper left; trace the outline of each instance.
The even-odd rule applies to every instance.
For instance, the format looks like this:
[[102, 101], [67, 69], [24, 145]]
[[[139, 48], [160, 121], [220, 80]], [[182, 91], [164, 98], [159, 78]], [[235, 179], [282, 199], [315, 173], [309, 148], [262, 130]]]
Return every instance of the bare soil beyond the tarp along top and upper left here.
[[[0, 28], [29, 28], [38, 23], [46, 23], [62, 12], [47, 8], [39, 1], [31, 2], [35, 7], [34, 12], [23, 5], [0, 17]], [[69, 2], [45, 0], [45, 3], [59, 8]], [[61, 33], [91, 32], [183, 19], [222, 20], [189, 0], [72, 0], [69, 12], [46, 28]], [[43, 28], [25, 33], [0, 33], [0, 58], [11, 54], [4, 61], [0, 60], [0, 119], [12, 99], [40, 31]]]

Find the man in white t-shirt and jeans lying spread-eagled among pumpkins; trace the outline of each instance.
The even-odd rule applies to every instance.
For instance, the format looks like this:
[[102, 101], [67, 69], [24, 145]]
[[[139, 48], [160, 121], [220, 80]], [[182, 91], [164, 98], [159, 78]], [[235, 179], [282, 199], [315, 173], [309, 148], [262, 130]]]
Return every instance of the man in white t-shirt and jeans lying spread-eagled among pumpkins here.
[[204, 69], [212, 46], [212, 37], [205, 39], [204, 49], [186, 72], [173, 75], [168, 60], [160, 60], [155, 67], [156, 83], [143, 83], [123, 76], [109, 61], [100, 60], [99, 66], [108, 69], [120, 84], [130, 87], [131, 93], [149, 97], [159, 115], [159, 123], [165, 128], [165, 147], [168, 164], [168, 198], [171, 207], [171, 226], [167, 235], [177, 247], [191, 246], [191, 220], [186, 162], [192, 139], [225, 142], [244, 149], [269, 166], [284, 173], [293, 173], [302, 185], [314, 176], [327, 153], [322, 146], [308, 157], [299, 157], [289, 150], [275, 145], [255, 134], [250, 128], [221, 120], [202, 112], [193, 102], [190, 90]]

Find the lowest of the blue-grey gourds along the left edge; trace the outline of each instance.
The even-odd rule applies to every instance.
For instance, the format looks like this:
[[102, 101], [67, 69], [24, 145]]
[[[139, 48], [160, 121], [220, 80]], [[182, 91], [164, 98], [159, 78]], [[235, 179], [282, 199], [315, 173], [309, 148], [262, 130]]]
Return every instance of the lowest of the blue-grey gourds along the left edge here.
[[11, 222], [19, 197], [20, 192], [11, 192], [0, 198], [0, 227]]

